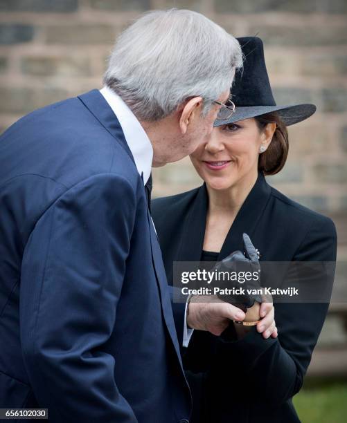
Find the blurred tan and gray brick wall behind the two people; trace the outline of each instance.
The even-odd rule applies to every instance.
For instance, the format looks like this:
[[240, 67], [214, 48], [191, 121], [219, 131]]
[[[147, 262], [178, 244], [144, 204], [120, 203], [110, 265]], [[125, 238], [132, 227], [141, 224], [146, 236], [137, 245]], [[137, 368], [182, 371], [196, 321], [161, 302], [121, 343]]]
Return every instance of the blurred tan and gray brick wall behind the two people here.
[[[99, 88], [116, 35], [139, 12], [186, 7], [235, 36], [265, 41], [278, 104], [314, 102], [290, 128], [290, 156], [272, 183], [330, 214], [347, 210], [346, 0], [0, 0], [0, 131], [21, 115]], [[190, 189], [188, 159], [154, 171], [154, 195]]]

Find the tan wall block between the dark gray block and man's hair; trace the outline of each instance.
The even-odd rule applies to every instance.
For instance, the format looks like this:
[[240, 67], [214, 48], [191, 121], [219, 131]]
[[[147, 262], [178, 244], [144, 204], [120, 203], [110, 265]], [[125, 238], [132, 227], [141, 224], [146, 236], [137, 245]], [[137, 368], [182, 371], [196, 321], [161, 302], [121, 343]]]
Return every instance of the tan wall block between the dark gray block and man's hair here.
[[78, 24], [73, 26], [48, 26], [48, 44], [105, 44], [113, 43], [116, 28], [109, 25]]

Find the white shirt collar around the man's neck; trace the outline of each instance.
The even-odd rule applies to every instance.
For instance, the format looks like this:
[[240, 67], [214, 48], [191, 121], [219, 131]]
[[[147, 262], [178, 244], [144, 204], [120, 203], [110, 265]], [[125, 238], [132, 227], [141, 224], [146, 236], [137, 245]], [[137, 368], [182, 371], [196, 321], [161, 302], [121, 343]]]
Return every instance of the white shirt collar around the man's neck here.
[[110, 88], [104, 86], [100, 93], [103, 95], [122, 126], [127, 145], [134, 156], [136, 168], [139, 174], [143, 173], [143, 183], [150, 178], [152, 170], [153, 148], [145, 130], [139, 120], [123, 102], [121, 97]]

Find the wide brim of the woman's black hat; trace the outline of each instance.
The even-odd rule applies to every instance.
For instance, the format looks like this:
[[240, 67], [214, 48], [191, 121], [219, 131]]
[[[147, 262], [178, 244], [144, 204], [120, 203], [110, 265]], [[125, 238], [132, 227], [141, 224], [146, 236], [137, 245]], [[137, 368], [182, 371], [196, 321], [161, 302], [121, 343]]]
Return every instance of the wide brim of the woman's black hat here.
[[226, 120], [215, 120], [213, 126], [222, 126], [239, 120], [256, 118], [256, 116], [266, 115], [276, 111], [283, 122], [289, 126], [310, 118], [316, 111], [314, 104], [294, 104], [292, 106], [236, 106], [235, 113]]

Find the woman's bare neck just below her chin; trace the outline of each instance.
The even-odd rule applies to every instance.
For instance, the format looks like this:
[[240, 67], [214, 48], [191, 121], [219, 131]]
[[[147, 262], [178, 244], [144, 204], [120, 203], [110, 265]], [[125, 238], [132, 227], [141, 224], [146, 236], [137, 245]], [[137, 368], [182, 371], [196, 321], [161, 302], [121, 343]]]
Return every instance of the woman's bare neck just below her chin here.
[[208, 191], [208, 214], [220, 215], [228, 214], [235, 216], [238, 214], [244, 200], [247, 198], [258, 178], [258, 172], [251, 173], [247, 178], [242, 178], [228, 189], [213, 189], [206, 184]]

